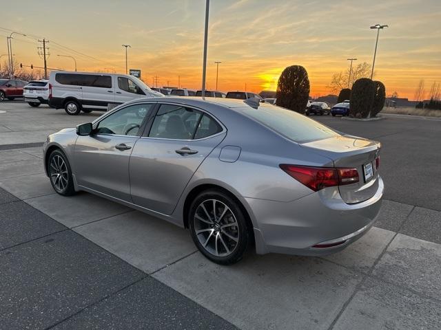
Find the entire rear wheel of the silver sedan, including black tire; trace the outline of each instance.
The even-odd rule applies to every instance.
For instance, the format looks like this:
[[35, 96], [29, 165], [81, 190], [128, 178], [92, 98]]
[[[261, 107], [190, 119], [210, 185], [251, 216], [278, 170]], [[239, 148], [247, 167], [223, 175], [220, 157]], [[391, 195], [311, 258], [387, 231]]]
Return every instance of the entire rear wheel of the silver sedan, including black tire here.
[[[216, 203], [213, 203], [213, 200], [216, 200]], [[205, 205], [208, 214], [202, 211], [202, 204]], [[216, 205], [216, 208], [213, 205]], [[225, 206], [228, 210], [225, 210]], [[218, 217], [225, 210], [221, 219], [216, 219], [213, 216], [214, 209]], [[195, 217], [196, 212], [198, 212], [198, 218]], [[209, 219], [212, 224], [199, 220], [201, 217]], [[247, 219], [242, 208], [237, 201], [221, 190], [213, 189], [201, 192], [189, 208], [188, 223], [192, 239], [198, 250], [207, 259], [220, 265], [232, 265], [240, 261], [251, 241], [250, 228], [248, 228]], [[207, 228], [201, 228], [201, 225]], [[196, 230], [202, 230], [203, 232], [196, 234]], [[200, 240], [206, 240], [206, 248]], [[222, 251], [225, 252], [223, 255], [220, 253]]]

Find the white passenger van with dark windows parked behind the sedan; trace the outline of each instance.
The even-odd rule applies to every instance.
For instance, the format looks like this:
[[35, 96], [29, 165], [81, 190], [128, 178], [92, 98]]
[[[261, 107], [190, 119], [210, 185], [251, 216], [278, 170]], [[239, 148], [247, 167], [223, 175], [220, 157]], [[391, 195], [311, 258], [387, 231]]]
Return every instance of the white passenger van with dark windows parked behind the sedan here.
[[107, 111], [109, 104], [157, 96], [164, 95], [127, 74], [50, 72], [49, 105], [55, 109], [64, 108], [69, 115], [78, 115], [81, 111]]

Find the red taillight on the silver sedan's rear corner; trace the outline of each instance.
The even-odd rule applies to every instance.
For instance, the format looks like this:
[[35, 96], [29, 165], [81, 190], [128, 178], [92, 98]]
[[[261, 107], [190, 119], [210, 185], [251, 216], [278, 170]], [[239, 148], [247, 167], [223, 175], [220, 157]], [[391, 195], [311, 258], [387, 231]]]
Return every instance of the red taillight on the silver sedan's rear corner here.
[[359, 180], [356, 168], [327, 168], [289, 164], [280, 164], [280, 168], [314, 191], [326, 187], [355, 184]]

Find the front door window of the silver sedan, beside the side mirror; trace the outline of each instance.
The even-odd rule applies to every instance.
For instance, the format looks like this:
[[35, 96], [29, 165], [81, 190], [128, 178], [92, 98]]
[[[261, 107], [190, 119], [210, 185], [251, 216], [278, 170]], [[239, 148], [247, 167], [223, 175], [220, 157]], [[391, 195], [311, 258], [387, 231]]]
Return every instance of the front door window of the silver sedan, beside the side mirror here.
[[96, 133], [136, 136], [153, 107], [154, 104], [134, 104], [116, 111], [99, 122]]

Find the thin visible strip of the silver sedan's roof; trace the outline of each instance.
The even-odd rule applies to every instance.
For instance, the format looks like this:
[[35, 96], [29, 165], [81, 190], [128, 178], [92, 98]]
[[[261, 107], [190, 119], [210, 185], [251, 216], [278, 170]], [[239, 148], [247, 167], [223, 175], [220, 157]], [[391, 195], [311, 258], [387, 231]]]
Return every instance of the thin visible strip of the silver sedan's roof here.
[[[252, 107], [252, 102], [249, 100], [238, 100], [236, 98], [202, 98], [198, 96], [165, 96], [158, 98], [139, 98], [126, 102], [125, 104], [137, 103], [137, 102], [176, 102], [183, 105], [193, 107], [203, 107], [207, 104], [219, 105], [225, 108], [241, 108]], [[274, 107], [272, 104], [260, 103], [259, 107]]]

